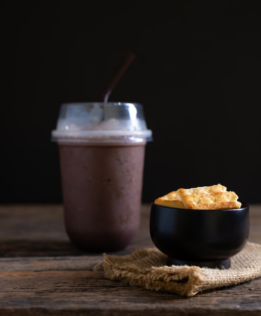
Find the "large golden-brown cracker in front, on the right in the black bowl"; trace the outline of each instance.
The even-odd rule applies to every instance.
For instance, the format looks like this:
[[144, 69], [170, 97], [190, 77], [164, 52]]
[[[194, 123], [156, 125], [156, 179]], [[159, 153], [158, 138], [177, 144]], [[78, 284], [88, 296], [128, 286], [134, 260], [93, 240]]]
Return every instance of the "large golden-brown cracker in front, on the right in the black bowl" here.
[[[226, 188], [227, 189], [227, 188]], [[185, 208], [189, 209], [231, 209], [240, 208], [241, 202], [233, 191], [224, 190], [224, 186], [179, 189], [178, 194]]]

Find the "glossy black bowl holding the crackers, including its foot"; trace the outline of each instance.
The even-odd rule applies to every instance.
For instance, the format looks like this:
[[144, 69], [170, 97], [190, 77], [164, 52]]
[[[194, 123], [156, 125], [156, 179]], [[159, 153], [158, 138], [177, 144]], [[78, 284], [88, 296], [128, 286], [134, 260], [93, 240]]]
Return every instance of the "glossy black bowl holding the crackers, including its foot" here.
[[249, 236], [249, 208], [182, 209], [151, 204], [150, 236], [166, 265], [228, 269]]

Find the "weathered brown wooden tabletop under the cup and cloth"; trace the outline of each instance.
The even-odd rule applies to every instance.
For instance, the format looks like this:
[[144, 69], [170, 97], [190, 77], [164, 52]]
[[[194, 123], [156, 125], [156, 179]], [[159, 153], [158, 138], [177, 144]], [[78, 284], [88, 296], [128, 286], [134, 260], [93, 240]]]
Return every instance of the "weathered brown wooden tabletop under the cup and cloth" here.
[[[118, 255], [152, 247], [150, 205]], [[250, 205], [249, 241], [261, 243], [261, 205]], [[107, 280], [103, 254], [69, 241], [61, 205], [0, 206], [0, 315], [261, 315], [261, 278], [186, 298]]]

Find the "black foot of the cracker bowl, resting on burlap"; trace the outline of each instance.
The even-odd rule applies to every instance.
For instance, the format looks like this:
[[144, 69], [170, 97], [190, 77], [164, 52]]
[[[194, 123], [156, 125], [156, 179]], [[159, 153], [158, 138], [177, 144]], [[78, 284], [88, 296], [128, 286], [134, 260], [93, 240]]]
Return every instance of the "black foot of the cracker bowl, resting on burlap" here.
[[230, 258], [225, 260], [216, 260], [216, 261], [189, 261], [189, 260], [178, 260], [174, 258], [167, 257], [166, 260], [167, 266], [198, 266], [200, 268], [218, 268], [220, 270], [229, 269], [231, 267]]

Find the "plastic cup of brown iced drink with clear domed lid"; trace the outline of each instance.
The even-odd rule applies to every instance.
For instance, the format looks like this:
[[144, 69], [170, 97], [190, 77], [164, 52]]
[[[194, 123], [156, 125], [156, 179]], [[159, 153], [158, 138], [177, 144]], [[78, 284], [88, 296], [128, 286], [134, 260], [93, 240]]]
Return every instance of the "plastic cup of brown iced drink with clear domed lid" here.
[[125, 248], [139, 229], [145, 145], [152, 140], [142, 104], [62, 104], [52, 140], [72, 243], [93, 252]]

